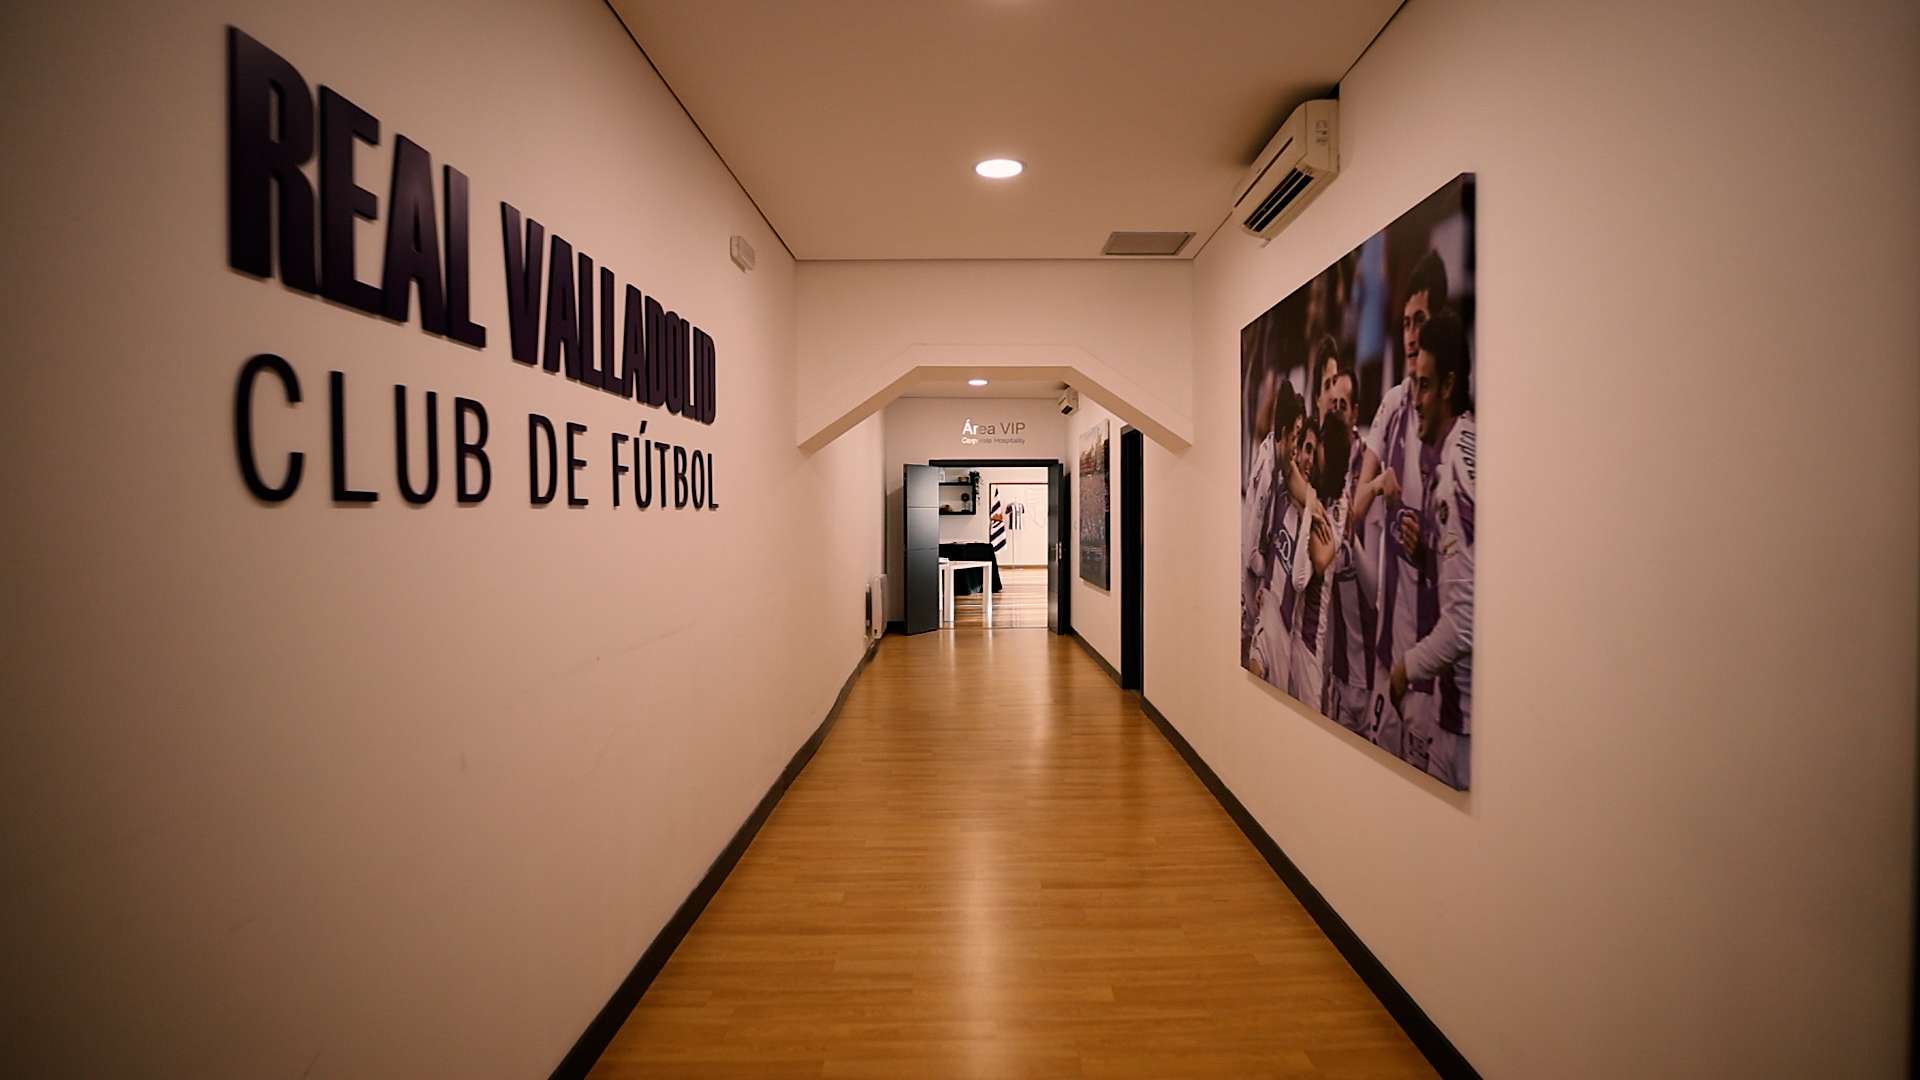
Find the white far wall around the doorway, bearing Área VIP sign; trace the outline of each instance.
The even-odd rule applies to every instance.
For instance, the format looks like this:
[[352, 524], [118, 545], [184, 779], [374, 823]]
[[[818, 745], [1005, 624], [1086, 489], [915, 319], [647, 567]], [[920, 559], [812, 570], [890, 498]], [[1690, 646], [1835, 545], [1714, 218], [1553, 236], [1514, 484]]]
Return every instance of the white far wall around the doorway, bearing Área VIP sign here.
[[[904, 467], [937, 459], [1066, 461], [1068, 421], [1050, 400], [1033, 398], [900, 398], [887, 405], [881, 417], [887, 461], [881, 480], [887, 507], [887, 619], [902, 619], [906, 613], [906, 580], [900, 577], [906, 559]], [[996, 430], [1004, 430], [1008, 423], [1025, 427], [1016, 436], [995, 434], [962, 442], [968, 436], [960, 429], [968, 419], [975, 425], [995, 425]], [[1041, 479], [1044, 480], [1044, 473]], [[987, 484], [981, 482], [981, 498], [985, 496]]]

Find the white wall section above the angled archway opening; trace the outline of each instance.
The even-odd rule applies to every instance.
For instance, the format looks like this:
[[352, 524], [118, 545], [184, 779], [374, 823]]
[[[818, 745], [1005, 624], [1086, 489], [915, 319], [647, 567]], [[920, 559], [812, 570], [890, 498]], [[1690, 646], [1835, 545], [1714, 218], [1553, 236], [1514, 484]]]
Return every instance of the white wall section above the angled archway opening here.
[[1083, 396], [1192, 436], [1187, 261], [810, 261], [797, 277], [797, 440], [918, 365], [1071, 365]]

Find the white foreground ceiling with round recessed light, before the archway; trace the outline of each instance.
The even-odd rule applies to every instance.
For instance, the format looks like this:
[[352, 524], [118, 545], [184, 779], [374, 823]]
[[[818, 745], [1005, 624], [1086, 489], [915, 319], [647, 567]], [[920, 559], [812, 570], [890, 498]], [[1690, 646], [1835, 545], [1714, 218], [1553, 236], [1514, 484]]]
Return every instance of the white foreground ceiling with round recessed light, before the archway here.
[[797, 258], [1081, 259], [1116, 229], [1192, 258], [1400, 0], [611, 4]]

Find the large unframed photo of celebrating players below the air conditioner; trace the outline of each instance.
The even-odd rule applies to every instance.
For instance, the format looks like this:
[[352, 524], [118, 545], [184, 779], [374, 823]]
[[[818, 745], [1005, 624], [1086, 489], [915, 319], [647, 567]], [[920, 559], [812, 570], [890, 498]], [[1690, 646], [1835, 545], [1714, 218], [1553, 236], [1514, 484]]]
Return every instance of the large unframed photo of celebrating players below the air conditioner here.
[[1240, 665], [1465, 790], [1473, 175], [1240, 331]]

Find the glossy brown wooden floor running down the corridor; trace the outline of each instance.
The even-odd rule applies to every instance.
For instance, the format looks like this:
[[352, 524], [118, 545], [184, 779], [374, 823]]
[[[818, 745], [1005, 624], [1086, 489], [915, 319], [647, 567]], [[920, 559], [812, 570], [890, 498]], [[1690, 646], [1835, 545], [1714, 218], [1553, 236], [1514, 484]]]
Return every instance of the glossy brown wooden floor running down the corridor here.
[[1430, 1076], [1137, 698], [889, 636], [593, 1072]]

